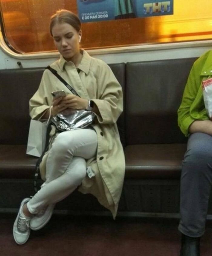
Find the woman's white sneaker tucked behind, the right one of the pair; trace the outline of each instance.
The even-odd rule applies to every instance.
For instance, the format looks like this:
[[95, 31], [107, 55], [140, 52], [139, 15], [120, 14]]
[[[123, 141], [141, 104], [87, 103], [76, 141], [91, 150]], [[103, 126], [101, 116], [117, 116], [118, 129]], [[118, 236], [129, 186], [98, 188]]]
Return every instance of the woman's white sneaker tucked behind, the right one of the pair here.
[[51, 219], [55, 204], [50, 204], [44, 209], [42, 209], [38, 214], [35, 214], [30, 220], [31, 230], [39, 230], [47, 224]]

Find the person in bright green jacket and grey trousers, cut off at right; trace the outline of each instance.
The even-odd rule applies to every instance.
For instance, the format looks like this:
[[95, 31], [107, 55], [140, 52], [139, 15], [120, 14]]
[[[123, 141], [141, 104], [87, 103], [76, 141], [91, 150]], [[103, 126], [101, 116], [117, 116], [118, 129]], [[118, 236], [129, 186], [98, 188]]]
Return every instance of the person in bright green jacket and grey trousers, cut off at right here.
[[212, 121], [207, 115], [202, 82], [212, 76], [212, 51], [194, 62], [178, 109], [178, 125], [188, 137], [181, 172], [181, 256], [200, 255], [212, 184]]

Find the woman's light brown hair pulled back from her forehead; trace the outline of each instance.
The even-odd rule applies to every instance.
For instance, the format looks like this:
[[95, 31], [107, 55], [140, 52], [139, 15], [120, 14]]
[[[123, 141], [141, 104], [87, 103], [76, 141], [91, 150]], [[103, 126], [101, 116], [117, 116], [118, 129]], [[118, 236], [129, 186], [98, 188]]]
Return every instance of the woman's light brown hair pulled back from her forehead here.
[[81, 29], [81, 22], [77, 15], [68, 10], [58, 10], [54, 15], [50, 18], [49, 29], [50, 34], [52, 36], [52, 28], [56, 23], [68, 23], [73, 28], [76, 29], [77, 32]]

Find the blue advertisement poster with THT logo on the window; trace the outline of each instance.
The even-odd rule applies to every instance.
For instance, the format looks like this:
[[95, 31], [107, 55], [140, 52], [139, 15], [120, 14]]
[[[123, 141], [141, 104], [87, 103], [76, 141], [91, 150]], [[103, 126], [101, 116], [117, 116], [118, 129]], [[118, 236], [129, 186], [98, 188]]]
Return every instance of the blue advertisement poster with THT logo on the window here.
[[174, 0], [77, 0], [81, 22], [128, 19], [174, 13]]

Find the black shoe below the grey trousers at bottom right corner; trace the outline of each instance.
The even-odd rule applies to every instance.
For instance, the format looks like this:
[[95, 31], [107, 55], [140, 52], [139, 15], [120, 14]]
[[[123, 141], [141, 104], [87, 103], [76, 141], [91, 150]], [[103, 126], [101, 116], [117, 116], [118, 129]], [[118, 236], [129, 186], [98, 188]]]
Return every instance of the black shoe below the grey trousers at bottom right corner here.
[[200, 237], [182, 234], [180, 256], [200, 256]]

